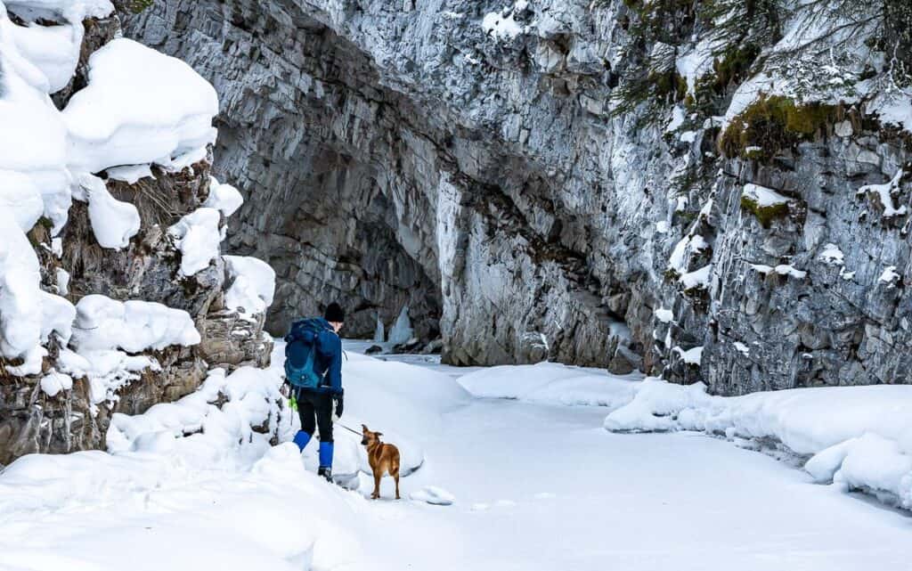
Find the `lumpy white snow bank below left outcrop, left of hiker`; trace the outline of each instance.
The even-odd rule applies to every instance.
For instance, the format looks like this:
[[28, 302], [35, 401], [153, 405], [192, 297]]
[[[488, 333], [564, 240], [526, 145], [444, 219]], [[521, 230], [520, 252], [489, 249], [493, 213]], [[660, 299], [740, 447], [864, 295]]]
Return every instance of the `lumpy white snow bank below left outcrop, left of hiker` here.
[[115, 414], [109, 453], [13, 462], [0, 474], [5, 565], [114, 569], [140, 552], [142, 568], [177, 571], [350, 566], [367, 503], [306, 472], [294, 444], [273, 448], [254, 430], [275, 429], [280, 385], [274, 372], [218, 369], [178, 402]]

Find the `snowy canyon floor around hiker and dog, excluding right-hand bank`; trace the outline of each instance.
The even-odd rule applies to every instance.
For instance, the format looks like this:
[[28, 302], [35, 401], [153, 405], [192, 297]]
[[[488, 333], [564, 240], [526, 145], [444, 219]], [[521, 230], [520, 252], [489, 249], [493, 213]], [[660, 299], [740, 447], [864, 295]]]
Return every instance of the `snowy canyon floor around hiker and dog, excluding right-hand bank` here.
[[[343, 423], [399, 444], [418, 468], [404, 497], [451, 505], [395, 502], [389, 478], [377, 502], [364, 474], [354, 491], [323, 483], [312, 451], [302, 462], [293, 444], [250, 430], [295, 431], [278, 414], [278, 369], [214, 372], [178, 404], [117, 417], [111, 453], [28, 456], [0, 473], [0, 569], [908, 567], [906, 512], [701, 432], [606, 431], [609, 412], [666, 413], [643, 389], [652, 381], [549, 364], [465, 371], [353, 347]], [[209, 404], [220, 392], [221, 410]], [[338, 427], [337, 450], [337, 473], [364, 468], [358, 437]]]

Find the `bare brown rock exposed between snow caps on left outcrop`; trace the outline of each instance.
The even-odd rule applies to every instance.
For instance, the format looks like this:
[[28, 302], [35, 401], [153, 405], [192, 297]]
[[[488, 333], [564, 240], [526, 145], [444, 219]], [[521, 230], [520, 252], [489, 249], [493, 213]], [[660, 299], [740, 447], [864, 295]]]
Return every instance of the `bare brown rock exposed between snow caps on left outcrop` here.
[[[88, 19], [85, 28], [77, 74], [54, 96], [59, 108], [85, 87], [88, 56], [119, 32], [119, 19]], [[99, 173], [110, 194], [133, 204], [140, 214], [139, 234], [126, 248], [98, 244], [86, 202], [73, 203], [67, 224], [56, 238], [45, 218], [27, 234], [35, 247], [43, 291], [66, 297], [73, 304], [89, 294], [100, 294], [181, 309], [192, 317], [202, 340], [192, 347], [119, 353], [126, 359], [154, 359], [155, 366], [130, 369], [130, 377], [105, 400], [93, 394], [98, 389], [86, 376], [73, 374], [71, 388], [45, 388], [46, 375], [64, 369], [61, 352], [66, 348], [61, 347], [59, 337], [51, 336], [47, 342], [41, 374], [16, 376], [10, 369], [22, 363], [0, 358], [0, 465], [30, 452], [104, 449], [112, 414], [136, 414], [156, 403], [177, 400], [197, 389], [210, 367], [268, 365], [272, 341], [263, 332], [265, 316], [242, 318], [224, 307], [226, 270], [221, 257], [201, 272], [184, 277], [179, 274], [181, 253], [167, 232], [183, 215], [206, 202], [211, 164], [210, 152], [182, 169], [152, 165], [153, 178], [132, 184]], [[222, 225], [225, 223], [223, 217]], [[144, 326], [163, 327], [161, 323], [138, 327]], [[126, 374], [126, 369], [118, 374]]]

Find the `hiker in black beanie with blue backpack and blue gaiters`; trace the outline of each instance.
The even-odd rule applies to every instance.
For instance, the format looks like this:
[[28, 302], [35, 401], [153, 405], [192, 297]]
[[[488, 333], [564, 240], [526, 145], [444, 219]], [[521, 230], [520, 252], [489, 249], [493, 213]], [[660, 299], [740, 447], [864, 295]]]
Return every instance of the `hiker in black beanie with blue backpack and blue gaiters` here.
[[297, 401], [301, 430], [295, 444], [304, 452], [307, 442], [320, 431], [319, 475], [332, 482], [333, 411], [342, 416], [342, 341], [338, 332], [345, 311], [337, 303], [326, 307], [324, 317], [296, 321], [285, 336], [285, 382]]

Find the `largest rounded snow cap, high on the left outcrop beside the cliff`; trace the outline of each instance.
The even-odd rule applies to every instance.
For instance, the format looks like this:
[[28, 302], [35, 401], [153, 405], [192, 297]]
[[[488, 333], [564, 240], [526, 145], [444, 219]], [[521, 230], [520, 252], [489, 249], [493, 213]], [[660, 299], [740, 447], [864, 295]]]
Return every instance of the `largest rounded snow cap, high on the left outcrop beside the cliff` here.
[[73, 171], [149, 163], [215, 140], [215, 89], [180, 59], [126, 38], [88, 60], [88, 87], [67, 104]]

